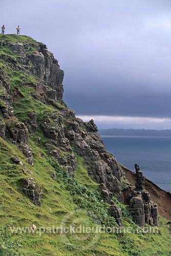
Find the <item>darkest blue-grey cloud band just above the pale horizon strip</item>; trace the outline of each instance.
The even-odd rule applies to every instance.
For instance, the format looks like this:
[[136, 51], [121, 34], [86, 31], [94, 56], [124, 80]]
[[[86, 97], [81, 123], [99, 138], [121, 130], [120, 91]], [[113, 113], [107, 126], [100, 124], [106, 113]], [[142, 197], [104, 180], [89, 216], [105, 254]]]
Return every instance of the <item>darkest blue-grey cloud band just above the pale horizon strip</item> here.
[[112, 94], [110, 91], [104, 92], [103, 95], [97, 93], [96, 96], [71, 93], [68, 97], [68, 107], [74, 109], [78, 115], [171, 118], [170, 98], [171, 95], [164, 93], [136, 95], [131, 91], [127, 95]]

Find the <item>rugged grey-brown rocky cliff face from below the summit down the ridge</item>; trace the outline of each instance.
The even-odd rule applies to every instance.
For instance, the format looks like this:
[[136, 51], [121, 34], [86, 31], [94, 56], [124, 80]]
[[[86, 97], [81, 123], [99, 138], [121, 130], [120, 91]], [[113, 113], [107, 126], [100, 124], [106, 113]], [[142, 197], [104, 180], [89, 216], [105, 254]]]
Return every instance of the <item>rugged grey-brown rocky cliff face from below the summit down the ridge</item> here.
[[[1, 41], [0, 47], [3, 50], [3, 65], [0, 68], [0, 136], [4, 140], [10, 139], [33, 166], [34, 158], [28, 137], [44, 134], [49, 138], [49, 142], [44, 143], [48, 154], [65, 166], [71, 177], [76, 171], [75, 154], [83, 157], [89, 166], [88, 174], [100, 184], [103, 197], [112, 205], [111, 215], [121, 225], [121, 210], [114, 206], [111, 199], [115, 196], [120, 202], [123, 201], [121, 177], [125, 178], [124, 171], [115, 157], [106, 151], [94, 121], [83, 122], [76, 118], [74, 111], [63, 102], [63, 71], [58, 61], [46, 45], [37, 42]], [[15, 80], [10, 78], [12, 72], [15, 72]], [[17, 100], [25, 97], [28, 88], [32, 88], [29, 96], [34, 102], [51, 105], [53, 111], [39, 116], [36, 109], [29, 110], [21, 121], [17, 113]], [[40, 137], [37, 143], [42, 143]], [[32, 178], [31, 181], [26, 180], [25, 193], [40, 206], [42, 193], [36, 197], [34, 189]]]

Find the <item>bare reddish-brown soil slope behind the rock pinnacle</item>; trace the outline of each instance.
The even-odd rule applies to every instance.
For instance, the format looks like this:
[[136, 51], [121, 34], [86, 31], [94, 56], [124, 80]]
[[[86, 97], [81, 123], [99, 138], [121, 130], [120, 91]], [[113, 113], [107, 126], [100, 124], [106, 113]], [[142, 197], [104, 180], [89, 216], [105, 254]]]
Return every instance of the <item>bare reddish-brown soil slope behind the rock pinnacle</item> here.
[[[136, 173], [132, 172], [123, 166], [121, 166], [125, 172], [126, 179], [129, 180], [135, 187]], [[161, 189], [152, 181], [145, 178], [145, 190], [151, 195], [152, 201], [158, 204], [159, 214], [171, 221], [171, 193]], [[124, 203], [127, 204], [127, 195], [131, 193], [131, 189], [123, 191]]]

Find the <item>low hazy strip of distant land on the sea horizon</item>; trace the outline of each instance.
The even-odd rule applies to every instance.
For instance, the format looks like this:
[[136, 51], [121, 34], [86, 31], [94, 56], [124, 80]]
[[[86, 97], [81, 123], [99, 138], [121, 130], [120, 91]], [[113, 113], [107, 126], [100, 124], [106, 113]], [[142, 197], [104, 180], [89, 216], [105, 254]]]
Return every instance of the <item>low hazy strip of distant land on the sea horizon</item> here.
[[98, 130], [100, 135], [106, 136], [156, 136], [171, 137], [171, 130], [145, 130], [145, 129], [101, 129]]

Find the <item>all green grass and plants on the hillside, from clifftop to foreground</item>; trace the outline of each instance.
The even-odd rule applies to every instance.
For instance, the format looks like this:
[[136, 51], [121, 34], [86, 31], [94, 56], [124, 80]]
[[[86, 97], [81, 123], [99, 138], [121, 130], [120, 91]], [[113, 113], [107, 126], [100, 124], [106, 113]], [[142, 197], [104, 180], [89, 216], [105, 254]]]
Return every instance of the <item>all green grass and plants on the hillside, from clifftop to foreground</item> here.
[[[34, 52], [38, 44], [31, 37], [13, 34], [0, 35], [1, 40], [11, 43], [30, 43], [27, 53]], [[14, 92], [13, 108], [18, 120], [29, 120], [28, 114], [33, 112], [37, 113], [38, 125], [51, 114], [55, 115], [56, 119], [61, 117], [63, 106], [59, 102], [51, 101], [47, 105], [33, 97], [36, 96], [35, 87], [40, 81], [36, 77], [13, 69], [13, 61], [17, 61], [20, 56], [8, 47], [0, 49], [0, 55], [2, 57], [0, 66], [5, 71], [7, 82]], [[3, 74], [3, 71], [1, 72]], [[48, 88], [47, 84], [43, 83], [42, 87]], [[0, 87], [0, 95], [2, 94], [6, 92]], [[5, 107], [3, 100], [0, 102], [0, 107]], [[7, 120], [4, 121], [7, 123]], [[11, 125], [14, 125], [15, 121], [15, 117], [11, 118]], [[50, 125], [55, 125], [53, 119], [50, 120]], [[67, 126], [65, 118], [63, 118], [63, 126]], [[171, 254], [167, 220], [160, 217], [159, 233], [143, 233], [142, 230], [137, 233], [137, 226], [132, 221], [129, 209], [115, 198], [115, 203], [122, 209], [123, 227], [132, 228], [132, 232], [124, 233], [124, 229], [120, 231], [118, 229], [118, 233], [50, 232], [52, 231], [50, 228], [60, 227], [62, 224], [66, 227], [82, 225], [94, 228], [103, 225], [117, 227], [117, 225], [114, 218], [108, 214], [109, 205], [100, 196], [99, 184], [88, 175], [88, 164], [74, 152], [74, 148], [76, 173], [75, 179], [72, 179], [56, 159], [48, 156], [48, 150], [44, 145], [46, 142], [51, 144], [51, 140], [45, 138], [40, 130], [32, 136], [29, 134], [29, 146], [34, 157], [33, 167], [28, 164], [28, 159], [19, 150], [18, 145], [12, 144], [8, 134], [6, 137], [6, 141], [0, 138], [0, 255], [167, 256]], [[40, 142], [39, 137], [41, 137]], [[56, 147], [51, 144], [50, 148]], [[61, 157], [68, 158], [71, 154], [59, 148], [57, 150]], [[12, 158], [15, 156], [23, 162], [28, 172], [22, 165], [14, 164]], [[56, 180], [52, 179], [52, 172], [56, 173]], [[24, 181], [30, 177], [34, 178], [36, 186], [43, 191], [40, 207], [33, 205], [23, 191]], [[122, 189], [130, 186], [130, 183], [122, 180]], [[19, 230], [16, 233], [9, 232], [9, 226], [25, 228], [31, 227], [33, 223], [37, 226], [38, 232]]]

